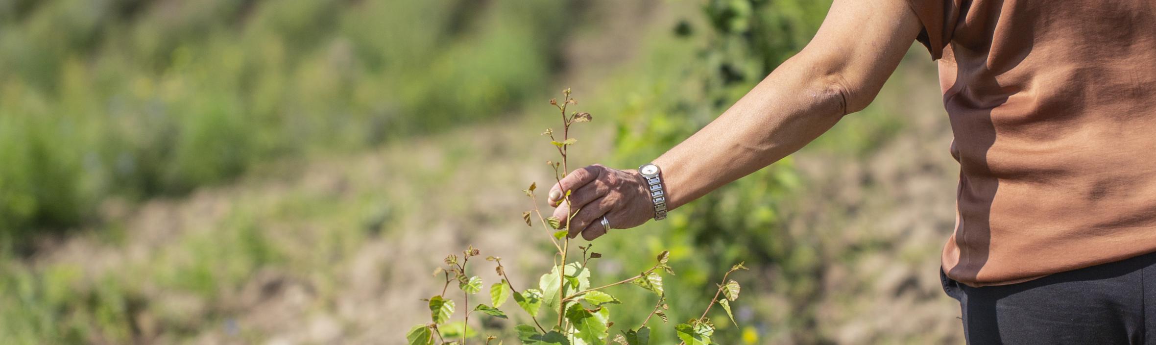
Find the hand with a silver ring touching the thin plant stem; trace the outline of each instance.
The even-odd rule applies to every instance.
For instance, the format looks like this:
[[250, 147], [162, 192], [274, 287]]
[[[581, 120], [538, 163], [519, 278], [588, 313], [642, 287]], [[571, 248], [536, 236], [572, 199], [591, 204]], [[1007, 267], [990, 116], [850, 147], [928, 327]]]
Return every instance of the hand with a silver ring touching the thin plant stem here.
[[[570, 190], [570, 204], [565, 192]], [[640, 226], [654, 216], [654, 204], [650, 198], [646, 179], [636, 170], [618, 170], [593, 164], [577, 169], [550, 188], [548, 201], [554, 216], [566, 223], [570, 210], [578, 210], [570, 223], [570, 238], [581, 234], [591, 241], [606, 234], [602, 216], [610, 227], [625, 229]]]

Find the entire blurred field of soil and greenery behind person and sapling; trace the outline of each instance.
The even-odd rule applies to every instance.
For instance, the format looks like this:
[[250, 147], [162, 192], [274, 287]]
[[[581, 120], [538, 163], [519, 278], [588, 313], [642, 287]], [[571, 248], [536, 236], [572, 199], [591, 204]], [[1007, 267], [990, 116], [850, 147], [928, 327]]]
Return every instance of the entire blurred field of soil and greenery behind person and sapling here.
[[[0, 0], [0, 339], [400, 344], [444, 254], [501, 254], [514, 284], [549, 270], [517, 216], [518, 190], [548, 183], [543, 100], [572, 86], [594, 113], [572, 166], [632, 168], [801, 50], [829, 6]], [[719, 344], [958, 342], [933, 271], [954, 200], [946, 149], [924, 149], [950, 137], [926, 113], [934, 78], [913, 50], [803, 153], [595, 241], [595, 279], [669, 249], [681, 322], [746, 262]], [[892, 163], [927, 151], [946, 161]], [[612, 332], [655, 300], [613, 293]]]

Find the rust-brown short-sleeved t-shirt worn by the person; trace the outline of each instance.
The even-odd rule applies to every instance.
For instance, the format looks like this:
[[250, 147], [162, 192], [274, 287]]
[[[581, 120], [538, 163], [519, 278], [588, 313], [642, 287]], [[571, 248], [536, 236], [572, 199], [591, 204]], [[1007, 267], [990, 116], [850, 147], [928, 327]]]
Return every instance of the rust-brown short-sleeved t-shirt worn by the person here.
[[909, 0], [959, 161], [948, 277], [1156, 251], [1156, 0]]

